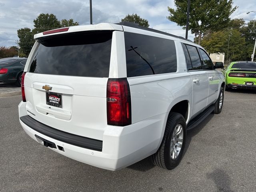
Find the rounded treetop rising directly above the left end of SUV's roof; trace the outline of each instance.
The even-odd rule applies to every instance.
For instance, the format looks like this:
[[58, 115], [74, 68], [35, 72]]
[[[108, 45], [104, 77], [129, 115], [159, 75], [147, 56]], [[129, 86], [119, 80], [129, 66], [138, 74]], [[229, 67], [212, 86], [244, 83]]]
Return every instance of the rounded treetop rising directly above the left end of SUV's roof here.
[[54, 14], [41, 13], [33, 22], [35, 27], [33, 29], [34, 34], [61, 27], [60, 21]]

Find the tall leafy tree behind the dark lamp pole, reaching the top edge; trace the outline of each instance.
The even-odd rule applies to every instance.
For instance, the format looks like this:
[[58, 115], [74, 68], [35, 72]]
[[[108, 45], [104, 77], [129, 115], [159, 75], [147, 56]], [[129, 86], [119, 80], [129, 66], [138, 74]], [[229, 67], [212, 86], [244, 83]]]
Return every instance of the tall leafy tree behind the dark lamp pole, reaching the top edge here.
[[[176, 22], [185, 29], [187, 18], [187, 0], [174, 0], [176, 10], [168, 7], [168, 20]], [[209, 32], [225, 28], [230, 22], [230, 15], [237, 9], [232, 8], [232, 0], [192, 0], [190, 4], [189, 25], [195, 37], [198, 35], [198, 44]]]

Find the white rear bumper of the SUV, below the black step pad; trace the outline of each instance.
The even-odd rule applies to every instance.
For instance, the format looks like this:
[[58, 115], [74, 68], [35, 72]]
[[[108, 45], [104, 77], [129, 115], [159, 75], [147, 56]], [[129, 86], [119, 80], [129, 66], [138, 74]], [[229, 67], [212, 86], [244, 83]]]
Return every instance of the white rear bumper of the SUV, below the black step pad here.
[[[56, 136], [51, 136], [50, 134], [40, 131], [38, 126], [28, 126], [28, 123], [25, 124], [22, 121], [22, 119], [24, 120], [24, 116], [27, 115], [26, 102], [20, 102], [20, 124], [22, 125], [22, 128], [26, 134], [28, 134], [28, 136], [35, 141], [39, 142], [40, 144], [44, 144], [42, 139], [47, 140], [56, 145], [56, 148], [48, 147], [55, 152], [74, 160], [112, 171], [129, 166], [156, 152], [160, 146], [163, 135], [161, 130], [166, 116], [166, 114], [161, 114], [159, 116], [155, 116], [153, 118], [125, 127], [108, 126], [103, 135], [102, 151], [99, 151], [92, 148], [89, 149], [82, 146], [77, 146], [71, 142], [68, 142], [68, 140], [63, 140], [63, 138], [60, 139]], [[30, 119], [33, 118], [30, 117]], [[40, 122], [38, 123], [42, 124]], [[83, 139], [93, 140], [90, 138]], [[98, 141], [99, 145], [100, 142], [101, 141]]]

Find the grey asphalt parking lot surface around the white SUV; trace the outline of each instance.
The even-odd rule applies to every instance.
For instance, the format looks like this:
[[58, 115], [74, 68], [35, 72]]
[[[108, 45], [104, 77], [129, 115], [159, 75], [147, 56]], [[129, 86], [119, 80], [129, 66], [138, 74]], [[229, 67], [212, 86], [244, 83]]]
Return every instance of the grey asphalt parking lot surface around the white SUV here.
[[188, 132], [183, 160], [169, 171], [145, 159], [111, 172], [53, 152], [22, 130], [20, 100], [0, 97], [1, 192], [256, 191], [256, 91], [227, 91], [222, 113]]

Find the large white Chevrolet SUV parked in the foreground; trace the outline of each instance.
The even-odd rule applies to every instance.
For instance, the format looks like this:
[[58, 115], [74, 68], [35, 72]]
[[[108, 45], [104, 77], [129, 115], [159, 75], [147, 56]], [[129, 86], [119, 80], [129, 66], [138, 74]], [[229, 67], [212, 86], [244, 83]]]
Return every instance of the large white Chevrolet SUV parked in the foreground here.
[[74, 160], [118, 170], [151, 156], [172, 169], [186, 130], [222, 110], [223, 74], [184, 38], [128, 22], [34, 38], [22, 75], [20, 124]]

